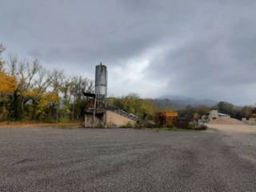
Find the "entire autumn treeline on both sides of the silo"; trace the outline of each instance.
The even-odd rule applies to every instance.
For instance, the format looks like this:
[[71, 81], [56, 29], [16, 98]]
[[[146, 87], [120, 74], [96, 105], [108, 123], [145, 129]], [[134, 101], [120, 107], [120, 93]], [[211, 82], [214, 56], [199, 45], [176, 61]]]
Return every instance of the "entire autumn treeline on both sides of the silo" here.
[[[10, 56], [1, 59], [5, 47], [0, 45], [0, 121], [82, 121], [86, 98], [84, 91], [92, 91], [94, 83], [81, 76], [67, 77], [62, 70], [46, 70], [37, 59], [18, 61]], [[159, 100], [159, 99], [158, 99]], [[159, 105], [150, 98], [129, 94], [121, 98], [107, 98], [110, 105], [142, 119], [154, 120], [159, 111], [171, 111], [172, 105]], [[219, 102], [216, 106], [186, 106], [178, 110], [182, 118], [198, 119], [210, 109], [230, 114], [234, 118], [249, 118], [252, 106], [234, 106]], [[174, 109], [175, 110], [175, 109]]]

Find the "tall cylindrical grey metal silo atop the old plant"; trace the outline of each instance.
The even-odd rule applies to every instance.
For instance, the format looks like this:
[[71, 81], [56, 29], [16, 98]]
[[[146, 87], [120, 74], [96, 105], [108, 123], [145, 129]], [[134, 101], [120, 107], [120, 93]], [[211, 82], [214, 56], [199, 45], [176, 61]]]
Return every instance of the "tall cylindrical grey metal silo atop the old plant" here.
[[96, 66], [95, 70], [95, 94], [106, 97], [107, 91], [107, 70], [102, 63]]

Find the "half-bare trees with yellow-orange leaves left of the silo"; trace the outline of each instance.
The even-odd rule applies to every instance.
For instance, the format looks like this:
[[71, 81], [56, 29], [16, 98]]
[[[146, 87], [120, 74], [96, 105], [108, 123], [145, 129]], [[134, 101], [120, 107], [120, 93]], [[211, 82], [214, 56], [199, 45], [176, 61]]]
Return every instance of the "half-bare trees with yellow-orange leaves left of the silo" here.
[[[5, 50], [0, 45], [0, 56]], [[85, 98], [93, 82], [63, 71], [46, 70], [37, 59], [0, 60], [0, 120], [61, 122], [83, 118]]]

